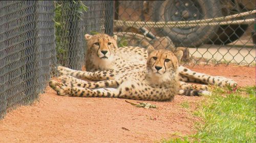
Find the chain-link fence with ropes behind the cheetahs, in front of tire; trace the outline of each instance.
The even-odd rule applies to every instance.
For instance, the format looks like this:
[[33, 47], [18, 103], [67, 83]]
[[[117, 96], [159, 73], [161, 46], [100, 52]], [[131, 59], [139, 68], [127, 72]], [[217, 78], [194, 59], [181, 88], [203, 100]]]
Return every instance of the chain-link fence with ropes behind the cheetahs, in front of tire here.
[[114, 33], [142, 47], [166, 37], [164, 46], [185, 47], [179, 48], [186, 53], [184, 64], [253, 64], [255, 5], [255, 0], [115, 1]]

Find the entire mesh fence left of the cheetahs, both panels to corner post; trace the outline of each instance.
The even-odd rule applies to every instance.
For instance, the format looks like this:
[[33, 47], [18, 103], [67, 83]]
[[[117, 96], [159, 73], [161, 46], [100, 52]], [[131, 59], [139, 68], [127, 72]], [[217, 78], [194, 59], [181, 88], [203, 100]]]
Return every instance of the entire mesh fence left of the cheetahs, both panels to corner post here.
[[84, 34], [113, 34], [113, 4], [0, 1], [0, 118], [38, 99], [57, 65], [81, 69]]

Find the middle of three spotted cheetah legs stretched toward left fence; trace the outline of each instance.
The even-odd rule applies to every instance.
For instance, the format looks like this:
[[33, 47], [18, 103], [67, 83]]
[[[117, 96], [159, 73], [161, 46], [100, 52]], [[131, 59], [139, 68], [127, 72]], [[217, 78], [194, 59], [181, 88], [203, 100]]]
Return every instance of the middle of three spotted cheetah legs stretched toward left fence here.
[[122, 80], [103, 80], [97, 82], [84, 81], [78, 78], [75, 78], [70, 75], [61, 75], [59, 77], [61, 82], [70, 85], [71, 87], [80, 87], [88, 89], [97, 89], [97, 88], [117, 88]]

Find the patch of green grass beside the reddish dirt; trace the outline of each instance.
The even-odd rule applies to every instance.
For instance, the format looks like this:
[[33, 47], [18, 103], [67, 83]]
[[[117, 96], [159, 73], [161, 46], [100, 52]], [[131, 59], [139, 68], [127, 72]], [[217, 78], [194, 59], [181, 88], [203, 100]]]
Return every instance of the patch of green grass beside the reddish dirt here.
[[161, 142], [256, 142], [255, 88], [215, 88], [194, 112], [203, 120], [198, 132]]

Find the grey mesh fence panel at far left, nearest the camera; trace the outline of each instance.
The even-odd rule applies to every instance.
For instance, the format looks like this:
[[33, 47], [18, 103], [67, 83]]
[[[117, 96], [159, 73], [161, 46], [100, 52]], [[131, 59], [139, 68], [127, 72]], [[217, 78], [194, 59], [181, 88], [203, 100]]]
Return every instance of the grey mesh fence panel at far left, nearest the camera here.
[[56, 64], [52, 1], [0, 1], [0, 119], [38, 98]]

